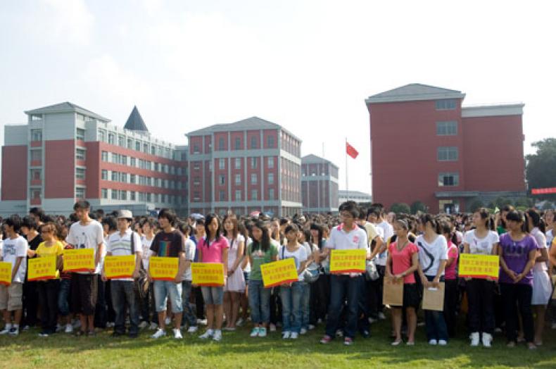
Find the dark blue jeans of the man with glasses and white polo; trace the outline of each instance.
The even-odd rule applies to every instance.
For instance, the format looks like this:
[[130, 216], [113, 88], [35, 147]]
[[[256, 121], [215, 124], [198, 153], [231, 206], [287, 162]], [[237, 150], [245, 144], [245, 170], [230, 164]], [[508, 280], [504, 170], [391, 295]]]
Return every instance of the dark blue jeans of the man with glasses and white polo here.
[[328, 319], [326, 334], [334, 337], [336, 329], [340, 323], [340, 313], [346, 297], [348, 300], [346, 326], [343, 329], [344, 337], [355, 337], [357, 331], [359, 292], [363, 277], [350, 277], [349, 275], [330, 276], [330, 306], [328, 309]]

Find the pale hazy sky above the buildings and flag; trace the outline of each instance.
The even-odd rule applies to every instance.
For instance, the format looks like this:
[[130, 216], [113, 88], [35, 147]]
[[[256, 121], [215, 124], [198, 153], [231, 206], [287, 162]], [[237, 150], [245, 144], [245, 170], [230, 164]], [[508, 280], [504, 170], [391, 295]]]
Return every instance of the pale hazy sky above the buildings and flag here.
[[[258, 116], [370, 192], [365, 99], [409, 83], [522, 102], [524, 149], [556, 136], [550, 1], [0, 0], [0, 141], [70, 101], [156, 137]], [[495, 139], [495, 138], [494, 138]], [[387, 153], [386, 153], [387, 154]]]

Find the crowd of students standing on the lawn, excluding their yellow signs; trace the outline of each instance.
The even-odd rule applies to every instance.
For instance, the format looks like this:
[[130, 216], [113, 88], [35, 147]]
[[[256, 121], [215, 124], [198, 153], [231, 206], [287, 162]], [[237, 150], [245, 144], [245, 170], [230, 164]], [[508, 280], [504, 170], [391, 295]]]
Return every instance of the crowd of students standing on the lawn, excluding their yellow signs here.
[[[535, 349], [551, 321], [545, 313], [552, 313], [554, 211], [505, 206], [495, 214], [479, 208], [396, 216], [381, 204], [360, 208], [353, 201], [341, 204], [339, 215], [291, 218], [210, 213], [179, 219], [170, 209], [152, 218], [91, 211], [87, 201], [77, 201], [73, 211], [65, 218], [32, 208], [23, 218], [2, 220], [0, 261], [11, 263], [12, 275], [0, 285], [0, 334], [40, 327], [42, 337], [94, 336], [111, 327], [114, 337], [152, 330], [160, 339], [171, 325], [175, 339], [187, 332], [220, 341], [223, 331], [251, 321], [253, 338], [281, 327], [283, 339], [297, 339], [320, 325], [322, 344], [341, 338], [350, 345], [358, 334], [369, 337], [388, 308], [394, 346], [415, 344], [423, 316], [430, 345], [447, 345], [465, 322], [471, 346], [490, 347], [495, 332], [505, 332], [508, 346], [524, 342]], [[93, 249], [95, 268], [65, 271], [68, 249]], [[366, 250], [365, 273], [330, 273], [331, 251], [349, 249]], [[459, 277], [461, 254], [499, 256], [498, 278]], [[133, 255], [131, 277], [106, 276], [106, 256]], [[44, 256], [56, 258], [56, 276], [27, 280], [28, 260]], [[175, 278], [153, 280], [151, 256], [177, 258]], [[297, 280], [266, 288], [261, 265], [287, 258]], [[191, 263], [222, 263], [224, 286], [193, 284]], [[384, 306], [385, 279], [403, 281], [400, 306]], [[419, 314], [424, 289], [441, 283], [443, 311]], [[198, 332], [201, 325], [206, 330]]]

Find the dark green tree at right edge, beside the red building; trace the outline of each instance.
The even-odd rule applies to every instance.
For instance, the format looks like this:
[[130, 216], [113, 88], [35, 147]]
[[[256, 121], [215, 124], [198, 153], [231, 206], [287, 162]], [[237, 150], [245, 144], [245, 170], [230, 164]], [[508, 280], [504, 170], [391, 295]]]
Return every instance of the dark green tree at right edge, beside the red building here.
[[[527, 155], [525, 177], [529, 188], [556, 187], [556, 138], [533, 142], [535, 154]], [[556, 194], [538, 196], [539, 199], [556, 200]]]

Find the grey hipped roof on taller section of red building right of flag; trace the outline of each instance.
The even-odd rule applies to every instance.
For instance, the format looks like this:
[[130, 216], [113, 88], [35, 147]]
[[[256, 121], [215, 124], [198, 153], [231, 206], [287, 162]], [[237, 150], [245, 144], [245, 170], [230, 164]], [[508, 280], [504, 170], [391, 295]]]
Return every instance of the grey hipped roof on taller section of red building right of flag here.
[[395, 89], [391, 89], [380, 94], [369, 96], [365, 99], [367, 104], [388, 103], [397, 101], [417, 101], [417, 100], [436, 100], [436, 99], [463, 99], [465, 94], [455, 89], [444, 89], [420, 83], [411, 83]]

